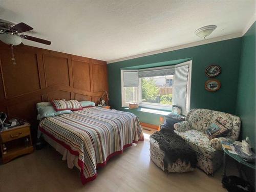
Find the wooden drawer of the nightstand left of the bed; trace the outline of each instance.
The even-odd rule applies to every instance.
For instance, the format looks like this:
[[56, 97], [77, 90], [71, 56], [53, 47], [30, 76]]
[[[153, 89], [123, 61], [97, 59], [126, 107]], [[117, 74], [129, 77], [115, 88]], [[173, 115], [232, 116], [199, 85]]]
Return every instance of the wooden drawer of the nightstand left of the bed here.
[[22, 138], [30, 135], [29, 126], [22, 127], [20, 129], [8, 130], [1, 133], [2, 142], [12, 141], [14, 139]]

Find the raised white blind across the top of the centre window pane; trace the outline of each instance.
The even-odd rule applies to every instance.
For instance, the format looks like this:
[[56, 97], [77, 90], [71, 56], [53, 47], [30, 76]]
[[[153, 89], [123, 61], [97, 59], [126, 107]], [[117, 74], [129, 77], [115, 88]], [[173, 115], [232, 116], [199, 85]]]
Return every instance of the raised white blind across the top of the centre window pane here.
[[175, 73], [174, 66], [150, 68], [150, 69], [139, 70], [139, 78], [174, 75], [174, 73]]

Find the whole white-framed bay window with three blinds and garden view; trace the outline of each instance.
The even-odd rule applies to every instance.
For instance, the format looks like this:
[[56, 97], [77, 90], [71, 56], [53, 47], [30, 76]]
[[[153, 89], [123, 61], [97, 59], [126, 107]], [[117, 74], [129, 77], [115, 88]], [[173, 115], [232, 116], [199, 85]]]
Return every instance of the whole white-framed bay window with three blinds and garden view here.
[[175, 66], [122, 70], [122, 106], [136, 102], [146, 108], [170, 110], [172, 105], [178, 105], [186, 114], [190, 72], [191, 61]]

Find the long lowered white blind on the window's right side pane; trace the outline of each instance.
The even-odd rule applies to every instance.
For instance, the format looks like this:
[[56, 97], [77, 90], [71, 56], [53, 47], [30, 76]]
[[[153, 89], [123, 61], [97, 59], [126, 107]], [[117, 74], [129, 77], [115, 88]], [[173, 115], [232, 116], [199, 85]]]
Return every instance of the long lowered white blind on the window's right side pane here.
[[174, 75], [174, 105], [178, 105], [181, 108], [181, 113], [186, 115], [187, 113], [187, 96], [188, 96], [188, 75], [189, 65], [180, 66], [175, 68]]

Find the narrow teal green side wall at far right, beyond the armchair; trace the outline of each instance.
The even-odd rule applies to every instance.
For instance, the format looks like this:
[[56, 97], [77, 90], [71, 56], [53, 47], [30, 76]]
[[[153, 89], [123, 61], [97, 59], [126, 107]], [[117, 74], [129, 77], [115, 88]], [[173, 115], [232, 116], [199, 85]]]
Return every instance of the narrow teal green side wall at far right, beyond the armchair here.
[[241, 138], [249, 136], [255, 146], [255, 23], [242, 38], [237, 115], [242, 120]]

